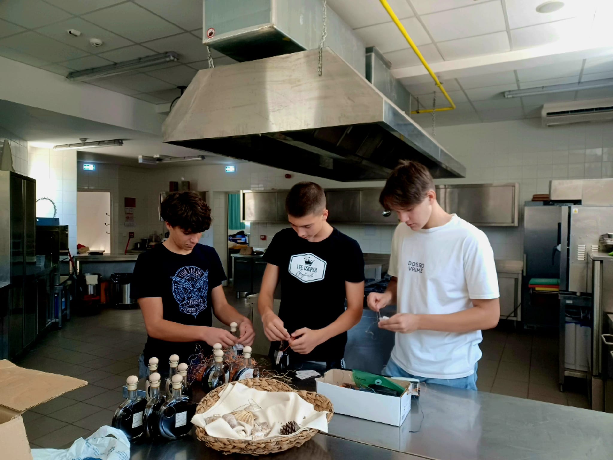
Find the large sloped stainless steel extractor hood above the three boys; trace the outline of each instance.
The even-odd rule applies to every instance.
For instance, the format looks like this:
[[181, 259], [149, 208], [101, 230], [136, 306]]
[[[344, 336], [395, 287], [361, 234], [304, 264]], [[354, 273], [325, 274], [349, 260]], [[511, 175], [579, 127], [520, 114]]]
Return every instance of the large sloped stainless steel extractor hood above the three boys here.
[[435, 178], [466, 168], [329, 48], [201, 70], [164, 121], [164, 142], [343, 182], [400, 159]]

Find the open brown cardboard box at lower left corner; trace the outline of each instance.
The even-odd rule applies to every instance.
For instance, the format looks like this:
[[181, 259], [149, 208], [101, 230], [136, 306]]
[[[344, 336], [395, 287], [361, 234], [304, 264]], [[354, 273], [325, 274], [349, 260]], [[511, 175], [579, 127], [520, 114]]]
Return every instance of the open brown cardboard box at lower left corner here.
[[2, 458], [32, 460], [21, 414], [58, 396], [87, 385], [66, 375], [15, 366], [0, 360], [0, 446]]

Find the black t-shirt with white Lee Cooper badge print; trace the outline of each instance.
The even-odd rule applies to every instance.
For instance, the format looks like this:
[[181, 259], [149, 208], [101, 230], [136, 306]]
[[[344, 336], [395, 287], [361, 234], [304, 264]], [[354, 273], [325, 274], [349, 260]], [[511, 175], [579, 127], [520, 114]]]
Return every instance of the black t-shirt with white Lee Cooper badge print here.
[[[264, 260], [279, 267], [279, 317], [290, 334], [333, 323], [345, 312], [345, 282], [364, 281], [362, 250], [356, 240], [338, 229], [314, 243], [300, 238], [291, 228], [283, 229], [270, 242]], [[296, 356], [304, 361], [338, 361], [345, 355], [346, 343], [347, 333], [343, 332], [308, 355]]]

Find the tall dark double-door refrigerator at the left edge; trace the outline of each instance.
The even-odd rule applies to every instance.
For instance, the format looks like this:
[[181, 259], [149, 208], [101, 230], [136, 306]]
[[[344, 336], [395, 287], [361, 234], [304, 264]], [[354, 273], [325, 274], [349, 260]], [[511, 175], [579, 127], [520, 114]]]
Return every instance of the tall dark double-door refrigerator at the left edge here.
[[35, 338], [36, 180], [0, 171], [0, 358], [13, 358]]

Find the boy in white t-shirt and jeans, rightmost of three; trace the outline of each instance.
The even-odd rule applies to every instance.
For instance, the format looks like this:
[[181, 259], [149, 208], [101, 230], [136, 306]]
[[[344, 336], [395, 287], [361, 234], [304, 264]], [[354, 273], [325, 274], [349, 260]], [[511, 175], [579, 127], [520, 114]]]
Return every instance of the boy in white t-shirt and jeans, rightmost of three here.
[[390, 377], [476, 390], [482, 329], [500, 318], [493, 251], [484, 232], [446, 213], [436, 201], [432, 175], [402, 161], [387, 179], [379, 201], [398, 214], [384, 293], [371, 293], [368, 307], [398, 313], [379, 322], [396, 332]]

